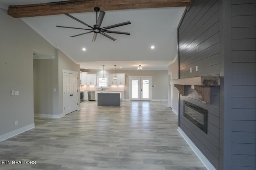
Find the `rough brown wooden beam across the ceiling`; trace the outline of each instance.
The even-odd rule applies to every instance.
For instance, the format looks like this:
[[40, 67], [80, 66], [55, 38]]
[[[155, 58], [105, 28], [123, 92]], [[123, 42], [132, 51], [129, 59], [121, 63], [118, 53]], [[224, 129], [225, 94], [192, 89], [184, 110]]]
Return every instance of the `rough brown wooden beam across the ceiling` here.
[[9, 6], [8, 15], [14, 18], [58, 15], [64, 13], [93, 12], [100, 10], [128, 10], [139, 8], [162, 8], [189, 6], [191, 0], [69, 0], [44, 4]]

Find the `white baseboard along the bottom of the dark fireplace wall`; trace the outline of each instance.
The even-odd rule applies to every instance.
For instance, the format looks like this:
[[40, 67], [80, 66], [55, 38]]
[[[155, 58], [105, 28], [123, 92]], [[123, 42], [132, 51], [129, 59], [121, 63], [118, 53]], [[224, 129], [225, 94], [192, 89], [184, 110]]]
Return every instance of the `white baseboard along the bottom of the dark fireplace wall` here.
[[183, 139], [186, 141], [186, 143], [188, 143], [190, 148], [194, 151], [196, 156], [201, 160], [201, 162], [204, 164], [204, 166], [208, 170], [216, 170], [216, 168], [214, 168], [214, 166], [211, 164], [211, 162], [204, 156], [204, 154], [202, 154], [202, 152], [196, 147], [196, 145], [189, 139], [189, 137], [186, 135], [186, 133], [184, 133], [184, 131], [182, 131], [182, 129], [180, 127], [178, 127], [177, 130], [180, 133], [180, 135], [183, 137]]

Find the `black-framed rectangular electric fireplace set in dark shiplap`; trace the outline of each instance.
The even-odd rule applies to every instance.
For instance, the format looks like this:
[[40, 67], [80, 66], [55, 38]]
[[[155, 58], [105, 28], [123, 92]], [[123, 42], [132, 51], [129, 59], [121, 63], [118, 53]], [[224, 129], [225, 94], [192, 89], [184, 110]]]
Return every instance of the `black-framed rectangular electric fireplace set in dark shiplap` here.
[[207, 110], [190, 102], [183, 101], [183, 116], [207, 133]]

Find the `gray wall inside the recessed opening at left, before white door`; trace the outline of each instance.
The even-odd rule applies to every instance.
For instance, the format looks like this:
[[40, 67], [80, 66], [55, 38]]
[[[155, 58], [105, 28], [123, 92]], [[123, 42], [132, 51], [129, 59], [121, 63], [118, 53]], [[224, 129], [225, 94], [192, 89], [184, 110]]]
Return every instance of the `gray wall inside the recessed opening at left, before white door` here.
[[59, 115], [58, 57], [55, 59], [34, 59], [33, 64], [34, 115]]

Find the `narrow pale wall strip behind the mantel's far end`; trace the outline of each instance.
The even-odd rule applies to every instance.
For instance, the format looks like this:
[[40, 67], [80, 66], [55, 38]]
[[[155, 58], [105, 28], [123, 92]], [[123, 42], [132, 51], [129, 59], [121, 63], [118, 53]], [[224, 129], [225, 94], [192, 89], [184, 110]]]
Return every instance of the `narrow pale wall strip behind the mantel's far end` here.
[[[178, 57], [176, 57], [175, 61], [172, 64], [168, 65], [168, 74], [170, 73], [172, 73], [173, 79], [178, 79]], [[172, 88], [172, 97], [170, 96], [172, 111], [178, 115], [178, 90], [176, 88], [173, 88], [172, 84], [170, 84], [169, 87]], [[169, 90], [171, 91], [171, 89]]]

